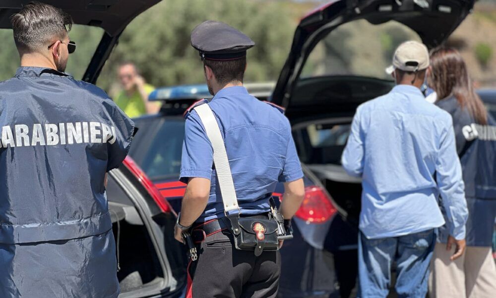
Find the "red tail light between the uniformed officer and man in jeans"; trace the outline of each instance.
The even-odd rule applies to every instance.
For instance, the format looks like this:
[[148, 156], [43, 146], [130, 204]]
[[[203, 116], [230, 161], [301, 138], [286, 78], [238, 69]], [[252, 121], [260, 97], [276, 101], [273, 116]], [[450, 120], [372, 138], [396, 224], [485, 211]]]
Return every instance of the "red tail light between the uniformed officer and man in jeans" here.
[[305, 188], [305, 199], [295, 216], [313, 224], [323, 224], [328, 221], [337, 209], [326, 192], [319, 186]]

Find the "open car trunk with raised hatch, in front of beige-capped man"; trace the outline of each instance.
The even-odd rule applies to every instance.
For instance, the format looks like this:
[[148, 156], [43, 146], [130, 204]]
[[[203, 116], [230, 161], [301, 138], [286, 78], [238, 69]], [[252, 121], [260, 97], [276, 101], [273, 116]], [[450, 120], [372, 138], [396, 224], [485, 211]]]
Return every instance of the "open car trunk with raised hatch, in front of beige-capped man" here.
[[[347, 224], [358, 226], [361, 209], [361, 180], [348, 176], [340, 163], [356, 108], [394, 86], [384, 69], [399, 43], [414, 39], [428, 47], [442, 44], [473, 4], [334, 0], [298, 25], [271, 100], [286, 108], [301, 161], [326, 187]], [[374, 50], [381, 55], [372, 56]], [[359, 67], [357, 59], [362, 59]]]

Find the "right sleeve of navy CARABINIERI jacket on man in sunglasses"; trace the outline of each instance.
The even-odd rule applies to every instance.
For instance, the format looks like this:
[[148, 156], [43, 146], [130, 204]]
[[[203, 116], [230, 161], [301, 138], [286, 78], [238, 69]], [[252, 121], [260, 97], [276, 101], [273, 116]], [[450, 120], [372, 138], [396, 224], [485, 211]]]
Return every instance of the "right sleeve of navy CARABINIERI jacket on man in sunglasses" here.
[[[110, 138], [107, 140], [108, 163], [107, 171], [121, 165], [129, 152], [134, 133], [134, 122], [114, 103], [111, 109]], [[104, 128], [105, 134], [105, 128]]]

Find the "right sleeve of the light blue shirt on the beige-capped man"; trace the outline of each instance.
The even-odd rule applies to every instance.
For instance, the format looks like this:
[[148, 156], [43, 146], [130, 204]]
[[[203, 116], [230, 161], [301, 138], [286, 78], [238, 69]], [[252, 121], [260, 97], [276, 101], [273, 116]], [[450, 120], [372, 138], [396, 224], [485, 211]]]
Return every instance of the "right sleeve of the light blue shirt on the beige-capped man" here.
[[468, 210], [460, 160], [456, 152], [453, 121], [442, 132], [436, 161], [436, 181], [446, 212], [446, 226], [457, 240], [465, 238]]

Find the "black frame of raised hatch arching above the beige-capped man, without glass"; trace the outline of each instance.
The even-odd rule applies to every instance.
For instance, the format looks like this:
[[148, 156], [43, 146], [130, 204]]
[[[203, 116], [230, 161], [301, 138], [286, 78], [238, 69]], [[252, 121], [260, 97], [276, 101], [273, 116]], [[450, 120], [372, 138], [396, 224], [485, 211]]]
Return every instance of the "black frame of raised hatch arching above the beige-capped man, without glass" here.
[[306, 15], [272, 101], [288, 107], [306, 60], [315, 45], [338, 26], [359, 19], [371, 24], [397, 21], [415, 31], [430, 48], [442, 44], [470, 13], [474, 0], [334, 0]]

